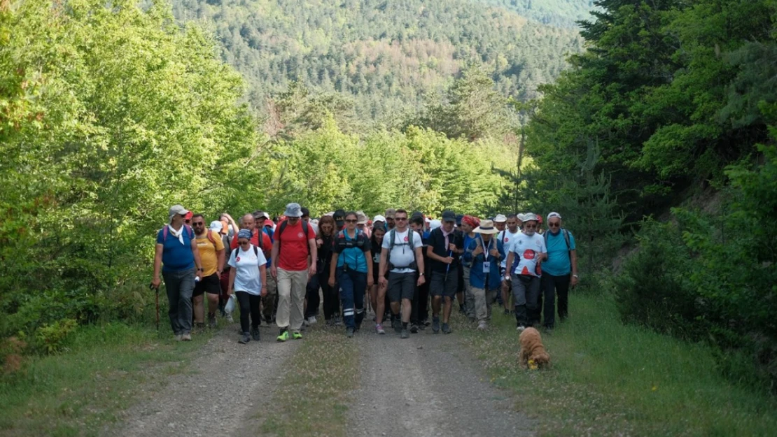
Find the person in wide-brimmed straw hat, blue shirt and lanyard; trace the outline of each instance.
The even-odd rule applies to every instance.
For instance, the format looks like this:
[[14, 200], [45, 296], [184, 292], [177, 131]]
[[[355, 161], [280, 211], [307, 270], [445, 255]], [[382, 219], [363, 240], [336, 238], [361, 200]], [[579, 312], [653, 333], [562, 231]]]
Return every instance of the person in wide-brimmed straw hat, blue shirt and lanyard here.
[[488, 328], [491, 318], [491, 302], [496, 300], [500, 290], [500, 262], [502, 255], [493, 238], [499, 230], [491, 220], [483, 220], [473, 231], [475, 238], [466, 246], [462, 263], [469, 265], [469, 288], [475, 300], [475, 316], [478, 329]]

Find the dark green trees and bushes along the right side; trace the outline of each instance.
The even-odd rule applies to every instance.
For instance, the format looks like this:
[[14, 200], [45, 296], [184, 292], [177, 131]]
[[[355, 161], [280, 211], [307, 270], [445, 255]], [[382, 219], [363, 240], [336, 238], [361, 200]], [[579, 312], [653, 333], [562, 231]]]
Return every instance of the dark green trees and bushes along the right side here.
[[519, 191], [573, 211], [573, 229], [606, 231], [722, 190], [643, 227], [618, 279], [620, 309], [747, 355], [730, 371], [775, 387], [777, 2], [597, 4], [588, 50], [525, 109], [534, 165]]

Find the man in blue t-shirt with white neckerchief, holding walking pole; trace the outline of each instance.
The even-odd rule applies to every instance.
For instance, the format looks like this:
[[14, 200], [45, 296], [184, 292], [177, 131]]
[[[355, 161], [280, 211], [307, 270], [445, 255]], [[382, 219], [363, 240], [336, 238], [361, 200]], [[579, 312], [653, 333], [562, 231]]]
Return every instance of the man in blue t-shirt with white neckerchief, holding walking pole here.
[[152, 287], [159, 288], [159, 268], [164, 265], [162, 277], [165, 278], [170, 303], [170, 326], [176, 340], [184, 342], [192, 339], [192, 293], [194, 283], [201, 279], [203, 272], [194, 231], [183, 223], [183, 216], [187, 213], [189, 210], [180, 205], [170, 208], [169, 224], [156, 235], [154, 278], [151, 282]]

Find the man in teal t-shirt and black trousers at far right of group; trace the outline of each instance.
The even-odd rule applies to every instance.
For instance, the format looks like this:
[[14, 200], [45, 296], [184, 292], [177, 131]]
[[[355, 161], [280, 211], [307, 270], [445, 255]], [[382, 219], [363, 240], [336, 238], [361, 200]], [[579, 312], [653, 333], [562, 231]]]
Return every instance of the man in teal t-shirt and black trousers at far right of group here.
[[570, 286], [577, 286], [577, 250], [575, 238], [562, 227], [561, 214], [548, 214], [548, 231], [542, 235], [548, 248], [548, 260], [542, 263], [543, 325], [556, 324], [556, 294], [559, 295], [559, 320], [569, 315]]

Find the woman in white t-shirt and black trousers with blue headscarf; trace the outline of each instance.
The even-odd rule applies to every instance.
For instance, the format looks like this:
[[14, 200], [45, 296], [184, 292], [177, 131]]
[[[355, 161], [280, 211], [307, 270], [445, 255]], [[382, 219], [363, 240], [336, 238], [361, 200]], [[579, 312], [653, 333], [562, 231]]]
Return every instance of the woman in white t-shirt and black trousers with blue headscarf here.
[[[238, 232], [238, 248], [229, 255], [229, 286], [227, 296], [232, 295], [240, 304], [240, 328], [242, 336], [239, 343], [245, 345], [251, 338], [259, 341], [259, 324], [262, 314], [259, 304], [267, 295], [267, 258], [256, 246], [251, 244], [251, 231], [241, 229]], [[251, 331], [249, 331], [249, 323]]]

